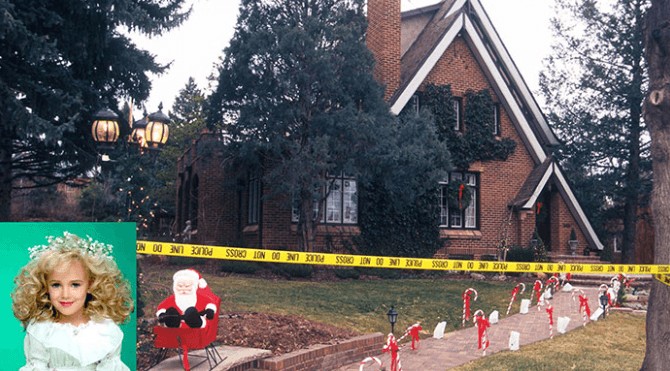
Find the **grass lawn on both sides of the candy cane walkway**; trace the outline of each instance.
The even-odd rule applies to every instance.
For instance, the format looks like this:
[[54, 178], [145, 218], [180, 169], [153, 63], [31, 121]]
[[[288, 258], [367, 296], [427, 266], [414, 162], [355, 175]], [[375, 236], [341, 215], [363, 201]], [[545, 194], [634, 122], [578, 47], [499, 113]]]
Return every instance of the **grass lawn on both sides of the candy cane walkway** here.
[[[172, 274], [179, 269], [182, 267], [144, 265], [141, 290], [147, 308], [155, 308], [171, 293]], [[447, 321], [447, 331], [461, 327], [462, 293], [466, 288], [473, 287], [479, 293], [479, 299], [472, 303], [473, 312], [482, 309], [489, 314], [497, 309], [504, 314], [510, 292], [517, 283], [512, 279], [507, 282], [454, 279], [443, 274], [429, 278], [314, 282], [239, 274], [203, 276], [221, 297], [224, 313], [293, 314], [361, 333], [387, 333], [390, 325], [386, 312], [394, 305], [399, 313], [396, 335], [421, 321], [424, 337], [432, 336], [440, 321]], [[528, 292], [524, 297], [527, 295]], [[518, 311], [519, 301], [516, 300], [514, 310]], [[148, 316], [154, 312], [146, 311]], [[644, 358], [644, 326], [644, 316], [615, 313], [606, 321], [524, 346], [516, 352], [490, 355], [458, 370], [637, 370]]]

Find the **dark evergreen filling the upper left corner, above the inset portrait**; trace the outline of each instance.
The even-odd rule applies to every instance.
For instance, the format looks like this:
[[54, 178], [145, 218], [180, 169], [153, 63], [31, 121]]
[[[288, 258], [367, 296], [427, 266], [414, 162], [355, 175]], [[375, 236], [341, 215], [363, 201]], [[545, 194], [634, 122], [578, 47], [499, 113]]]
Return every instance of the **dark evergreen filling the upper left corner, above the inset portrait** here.
[[92, 115], [146, 99], [167, 66], [122, 30], [159, 35], [184, 21], [185, 0], [0, 0], [0, 220], [12, 182], [47, 185], [96, 161]]

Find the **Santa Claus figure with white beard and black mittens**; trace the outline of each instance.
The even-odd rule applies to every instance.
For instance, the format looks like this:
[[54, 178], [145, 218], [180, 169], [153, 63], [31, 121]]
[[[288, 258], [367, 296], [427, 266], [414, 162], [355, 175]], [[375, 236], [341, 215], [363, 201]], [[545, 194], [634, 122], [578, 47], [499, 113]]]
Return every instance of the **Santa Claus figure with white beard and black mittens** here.
[[172, 279], [174, 294], [158, 305], [158, 322], [167, 327], [204, 328], [217, 310], [207, 282], [193, 269], [180, 270]]

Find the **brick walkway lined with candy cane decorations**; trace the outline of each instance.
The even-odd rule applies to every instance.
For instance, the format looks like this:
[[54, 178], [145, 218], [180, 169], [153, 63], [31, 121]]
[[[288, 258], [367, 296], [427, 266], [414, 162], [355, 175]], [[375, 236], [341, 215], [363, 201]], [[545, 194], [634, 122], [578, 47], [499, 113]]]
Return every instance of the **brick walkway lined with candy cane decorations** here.
[[[595, 311], [598, 308], [597, 288], [580, 288], [584, 290], [589, 298], [591, 312]], [[528, 291], [526, 291], [524, 297], [528, 298]], [[582, 326], [583, 319], [578, 312], [579, 301], [576, 303], [573, 302], [570, 293], [557, 292], [549, 302], [554, 307], [554, 337], [562, 335], [557, 331], [558, 317], [570, 317], [567, 331]], [[475, 303], [473, 312], [476, 309], [477, 307]], [[512, 310], [516, 310], [517, 314], [510, 314], [508, 317], [505, 317], [507, 308], [499, 310], [501, 312], [500, 321], [497, 324], [491, 325], [488, 329], [488, 336], [491, 344], [486, 351], [486, 355], [509, 349], [508, 344], [511, 331], [520, 333], [519, 344], [521, 346], [549, 338], [549, 317], [545, 311], [545, 307], [538, 311], [535, 306], [535, 301], [533, 301], [533, 305], [527, 314], [519, 314], [519, 298], [517, 298]], [[488, 317], [489, 313], [486, 313], [486, 315]], [[434, 327], [429, 329], [429, 325], [435, 326], [436, 324], [425, 324], [424, 332], [430, 331], [430, 333], [432, 333]], [[400, 346], [399, 351], [402, 369], [405, 371], [444, 370], [460, 366], [482, 357], [482, 351], [477, 349], [477, 332], [472, 325], [472, 321], [466, 323], [466, 326], [468, 327], [464, 330], [445, 333], [445, 337], [442, 339], [434, 339], [432, 337], [422, 339], [419, 348], [415, 351], [410, 349], [409, 343], [403, 343]], [[390, 365], [390, 356], [388, 353], [382, 354], [382, 346], [383, 344], [380, 344], [380, 351], [376, 357], [378, 357], [388, 369]], [[373, 370], [375, 368], [371, 364], [368, 364], [365, 369]], [[358, 370], [359, 364], [356, 363], [341, 367], [338, 371]]]

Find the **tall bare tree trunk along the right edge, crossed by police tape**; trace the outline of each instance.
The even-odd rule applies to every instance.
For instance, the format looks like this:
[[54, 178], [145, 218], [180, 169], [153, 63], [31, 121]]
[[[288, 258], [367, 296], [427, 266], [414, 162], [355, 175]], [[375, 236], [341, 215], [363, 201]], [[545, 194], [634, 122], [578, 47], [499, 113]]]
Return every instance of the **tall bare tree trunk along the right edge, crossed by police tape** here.
[[[654, 263], [670, 264], [670, 0], [652, 0], [645, 35], [649, 94], [645, 120], [651, 132], [654, 188]], [[670, 368], [670, 286], [651, 285], [647, 349], [642, 370]]]

